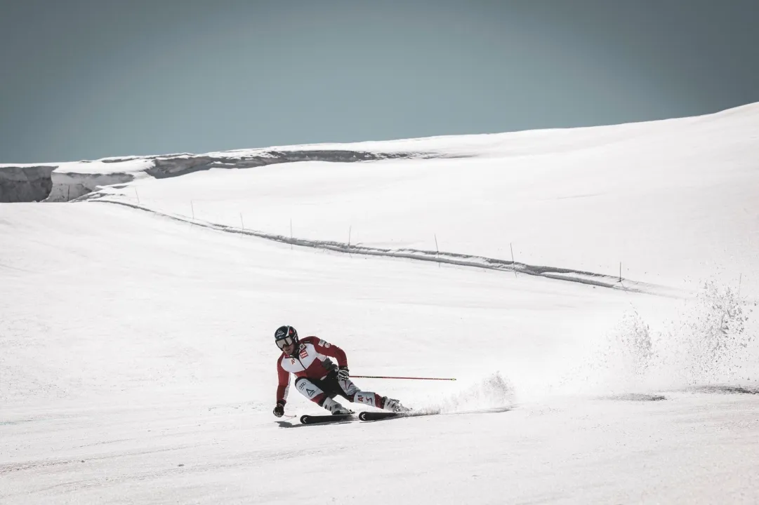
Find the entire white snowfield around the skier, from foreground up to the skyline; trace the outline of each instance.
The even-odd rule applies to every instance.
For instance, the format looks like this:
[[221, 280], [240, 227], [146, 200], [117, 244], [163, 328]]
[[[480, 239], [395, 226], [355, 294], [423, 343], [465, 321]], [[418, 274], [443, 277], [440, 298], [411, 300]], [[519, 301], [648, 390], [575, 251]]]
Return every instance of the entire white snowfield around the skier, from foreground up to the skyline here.
[[[748, 105], [131, 158], [0, 204], [0, 503], [757, 503], [757, 132]], [[279, 325], [456, 378], [354, 379], [444, 415], [275, 418]]]

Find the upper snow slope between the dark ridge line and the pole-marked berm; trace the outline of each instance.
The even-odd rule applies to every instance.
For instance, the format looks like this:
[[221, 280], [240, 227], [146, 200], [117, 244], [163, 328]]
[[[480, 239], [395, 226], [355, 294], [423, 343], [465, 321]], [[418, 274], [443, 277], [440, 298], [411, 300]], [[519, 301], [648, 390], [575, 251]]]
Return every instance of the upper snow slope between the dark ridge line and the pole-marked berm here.
[[90, 197], [284, 237], [500, 260], [513, 249], [528, 265], [759, 290], [759, 105], [455, 139], [417, 149], [456, 158], [212, 169]]

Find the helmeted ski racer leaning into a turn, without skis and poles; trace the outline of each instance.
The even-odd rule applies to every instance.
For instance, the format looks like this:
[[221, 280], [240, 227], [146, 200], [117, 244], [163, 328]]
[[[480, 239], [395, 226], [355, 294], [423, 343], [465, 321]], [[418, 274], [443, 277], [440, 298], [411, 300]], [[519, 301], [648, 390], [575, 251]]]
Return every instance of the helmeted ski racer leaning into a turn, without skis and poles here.
[[[348, 373], [348, 358], [339, 347], [319, 337], [298, 340], [298, 331], [291, 326], [277, 328], [274, 339], [282, 350], [282, 355], [277, 359], [279, 384], [275, 416], [281, 417], [285, 413], [290, 374], [295, 374], [295, 389], [335, 415], [352, 413], [334, 400], [337, 395], [351, 403], [363, 403], [391, 412], [408, 411], [398, 400], [359, 390]], [[336, 359], [337, 365], [329, 358]]]

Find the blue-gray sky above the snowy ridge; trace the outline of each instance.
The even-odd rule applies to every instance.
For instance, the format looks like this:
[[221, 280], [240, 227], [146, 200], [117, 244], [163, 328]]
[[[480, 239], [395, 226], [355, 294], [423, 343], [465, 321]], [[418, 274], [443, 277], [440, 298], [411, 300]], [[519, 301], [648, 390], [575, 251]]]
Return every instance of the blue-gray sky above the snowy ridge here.
[[0, 162], [759, 102], [757, 0], [3, 0]]

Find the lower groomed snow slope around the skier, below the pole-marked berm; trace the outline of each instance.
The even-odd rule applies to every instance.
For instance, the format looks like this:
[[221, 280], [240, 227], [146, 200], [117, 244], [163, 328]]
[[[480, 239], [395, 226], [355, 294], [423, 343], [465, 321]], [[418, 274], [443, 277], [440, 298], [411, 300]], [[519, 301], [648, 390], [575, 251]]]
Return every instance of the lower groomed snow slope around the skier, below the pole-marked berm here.
[[[290, 249], [121, 207], [2, 210], [3, 503], [757, 497], [759, 395], [689, 390], [685, 368], [656, 360], [655, 390], [622, 380], [631, 309], [665, 328], [692, 302]], [[515, 408], [281, 428], [282, 322], [345, 347], [357, 375], [458, 378], [357, 379], [367, 389]], [[675, 337], [652, 335], [660, 351]], [[633, 401], [653, 391], [666, 400]], [[318, 411], [291, 394], [288, 414]]]

